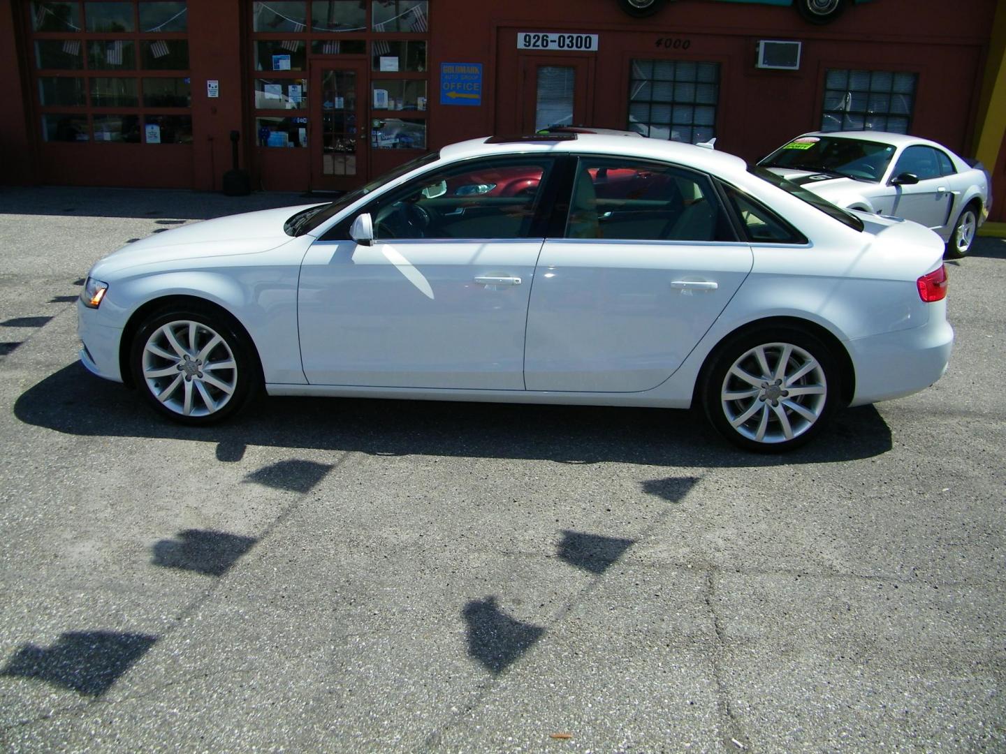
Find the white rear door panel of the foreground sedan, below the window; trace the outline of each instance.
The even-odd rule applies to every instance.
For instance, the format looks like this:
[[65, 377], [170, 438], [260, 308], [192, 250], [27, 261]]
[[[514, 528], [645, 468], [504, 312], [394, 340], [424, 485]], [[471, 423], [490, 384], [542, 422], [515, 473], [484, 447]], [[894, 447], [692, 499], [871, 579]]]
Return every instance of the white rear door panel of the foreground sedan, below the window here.
[[751, 264], [744, 243], [547, 240], [528, 309], [527, 389], [656, 387], [705, 335]]

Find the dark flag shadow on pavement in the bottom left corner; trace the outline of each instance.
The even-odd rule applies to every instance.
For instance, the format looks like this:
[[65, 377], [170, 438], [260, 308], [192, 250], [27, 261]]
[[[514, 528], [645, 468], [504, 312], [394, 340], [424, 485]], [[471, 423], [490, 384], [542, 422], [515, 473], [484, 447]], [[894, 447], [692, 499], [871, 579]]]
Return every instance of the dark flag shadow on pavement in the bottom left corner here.
[[49, 647], [25, 644], [0, 676], [38, 679], [85, 696], [100, 697], [156, 641], [157, 636], [144, 633], [72, 631], [63, 633]]

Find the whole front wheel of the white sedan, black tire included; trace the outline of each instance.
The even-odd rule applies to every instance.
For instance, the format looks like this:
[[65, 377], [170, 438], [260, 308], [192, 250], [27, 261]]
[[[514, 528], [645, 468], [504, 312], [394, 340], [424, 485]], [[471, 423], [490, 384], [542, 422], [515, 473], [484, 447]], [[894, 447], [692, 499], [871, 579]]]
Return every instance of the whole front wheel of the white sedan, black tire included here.
[[187, 426], [222, 421], [262, 387], [258, 354], [244, 330], [209, 307], [169, 307], [148, 317], [133, 339], [130, 370], [155, 411]]

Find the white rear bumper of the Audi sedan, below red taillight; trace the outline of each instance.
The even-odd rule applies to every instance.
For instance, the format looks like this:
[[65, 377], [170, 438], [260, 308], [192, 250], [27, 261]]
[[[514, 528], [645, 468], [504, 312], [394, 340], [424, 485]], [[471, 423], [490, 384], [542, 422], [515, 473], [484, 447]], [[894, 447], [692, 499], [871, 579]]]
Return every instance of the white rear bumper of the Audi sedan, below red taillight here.
[[911, 395], [944, 375], [954, 348], [954, 328], [947, 322], [946, 301], [931, 306], [943, 311], [934, 311], [923, 327], [846, 343], [856, 370], [850, 405]]

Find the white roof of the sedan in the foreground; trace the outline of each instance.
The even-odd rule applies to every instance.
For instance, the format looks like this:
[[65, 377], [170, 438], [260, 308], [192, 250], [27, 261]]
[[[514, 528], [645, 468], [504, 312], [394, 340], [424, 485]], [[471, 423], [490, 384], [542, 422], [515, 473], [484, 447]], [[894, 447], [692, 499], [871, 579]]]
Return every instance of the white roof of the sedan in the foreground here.
[[575, 134], [574, 139], [561, 141], [549, 140], [548, 136], [542, 136], [540, 140], [523, 137], [520, 142], [504, 141], [490, 144], [487, 143], [489, 138], [470, 139], [444, 147], [441, 150], [441, 159], [454, 161], [490, 155], [552, 152], [675, 162], [713, 173], [743, 172], [747, 168], [743, 160], [726, 152], [660, 139], [626, 139], [624, 136], [605, 134]]

